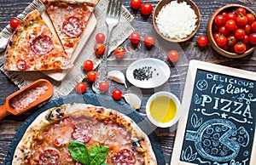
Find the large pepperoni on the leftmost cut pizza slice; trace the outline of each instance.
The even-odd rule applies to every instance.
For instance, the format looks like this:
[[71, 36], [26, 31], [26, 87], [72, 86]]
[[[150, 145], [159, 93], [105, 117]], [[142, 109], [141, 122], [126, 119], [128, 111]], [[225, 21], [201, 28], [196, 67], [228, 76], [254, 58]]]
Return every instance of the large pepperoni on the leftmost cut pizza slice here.
[[32, 41], [32, 51], [38, 55], [47, 54], [53, 49], [51, 38], [46, 35], [40, 35]]

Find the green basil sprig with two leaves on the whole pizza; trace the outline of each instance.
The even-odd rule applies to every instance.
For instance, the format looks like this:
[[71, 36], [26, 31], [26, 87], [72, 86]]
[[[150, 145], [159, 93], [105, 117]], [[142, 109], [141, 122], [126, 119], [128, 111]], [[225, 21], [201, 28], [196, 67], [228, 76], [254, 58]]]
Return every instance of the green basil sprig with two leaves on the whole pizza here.
[[73, 160], [81, 162], [84, 165], [106, 165], [106, 163], [102, 162], [104, 162], [108, 156], [109, 148], [107, 145], [93, 145], [90, 150], [88, 150], [84, 143], [70, 141], [68, 150]]

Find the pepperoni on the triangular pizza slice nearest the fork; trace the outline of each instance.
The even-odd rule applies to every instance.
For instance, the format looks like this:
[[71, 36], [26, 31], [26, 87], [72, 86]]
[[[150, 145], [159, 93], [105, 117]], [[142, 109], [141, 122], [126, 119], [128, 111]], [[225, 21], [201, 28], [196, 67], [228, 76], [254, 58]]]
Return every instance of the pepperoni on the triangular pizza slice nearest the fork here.
[[70, 16], [64, 20], [62, 30], [68, 37], [79, 37], [84, 27], [78, 17]]

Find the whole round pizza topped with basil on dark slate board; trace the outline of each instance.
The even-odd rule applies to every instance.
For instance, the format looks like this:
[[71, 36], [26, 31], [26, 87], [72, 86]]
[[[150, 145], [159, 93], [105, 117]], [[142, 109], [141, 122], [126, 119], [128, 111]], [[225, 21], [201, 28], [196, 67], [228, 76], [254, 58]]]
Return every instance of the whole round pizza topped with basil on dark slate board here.
[[65, 104], [26, 129], [12, 164], [157, 164], [147, 134], [130, 117], [101, 106]]

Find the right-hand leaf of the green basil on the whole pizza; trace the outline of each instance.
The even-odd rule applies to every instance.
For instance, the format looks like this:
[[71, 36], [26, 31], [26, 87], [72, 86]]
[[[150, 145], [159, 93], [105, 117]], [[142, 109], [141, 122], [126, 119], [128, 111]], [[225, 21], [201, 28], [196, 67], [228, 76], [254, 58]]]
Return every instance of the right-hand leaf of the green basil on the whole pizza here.
[[102, 162], [104, 162], [106, 157], [108, 156], [108, 151], [109, 148], [107, 145], [93, 145], [88, 151], [90, 165], [101, 165]]

